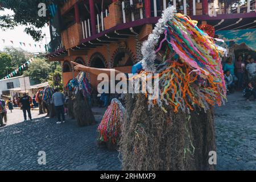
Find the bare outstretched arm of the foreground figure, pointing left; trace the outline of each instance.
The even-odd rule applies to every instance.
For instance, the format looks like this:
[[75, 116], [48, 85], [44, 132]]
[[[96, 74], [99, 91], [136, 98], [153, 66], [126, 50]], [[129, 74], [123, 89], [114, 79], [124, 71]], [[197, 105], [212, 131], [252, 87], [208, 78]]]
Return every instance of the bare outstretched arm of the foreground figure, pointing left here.
[[75, 65], [75, 67], [74, 67], [75, 71], [88, 72], [88, 73], [92, 73], [93, 75], [96, 75], [96, 76], [98, 76], [100, 73], [106, 73], [108, 76], [110, 76], [111, 72], [114, 72], [115, 75], [117, 75], [118, 73], [122, 73], [116, 69], [86, 67], [85, 65], [75, 63], [73, 61], [71, 61], [71, 64]]

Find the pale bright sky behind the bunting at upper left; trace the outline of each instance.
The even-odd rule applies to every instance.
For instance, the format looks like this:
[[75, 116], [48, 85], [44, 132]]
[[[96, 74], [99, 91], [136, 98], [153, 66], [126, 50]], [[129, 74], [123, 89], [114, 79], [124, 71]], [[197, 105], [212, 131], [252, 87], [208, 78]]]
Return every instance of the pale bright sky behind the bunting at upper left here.
[[[0, 11], [0, 16], [5, 14], [13, 14], [13, 11], [7, 9], [5, 9], [4, 11]], [[17, 26], [13, 30], [3, 31], [0, 27], [0, 51], [3, 51], [4, 47], [15, 47], [22, 48], [28, 52], [44, 52], [44, 45], [46, 43], [48, 44], [51, 40], [49, 34], [49, 27], [46, 25], [46, 27], [42, 28], [42, 32], [43, 34], [46, 34], [46, 38], [44, 38], [40, 42], [35, 42], [30, 35], [26, 34], [26, 32], [24, 32], [25, 28], [26, 26]], [[20, 43], [22, 45], [20, 45]], [[41, 48], [39, 47], [39, 45], [41, 46]]]

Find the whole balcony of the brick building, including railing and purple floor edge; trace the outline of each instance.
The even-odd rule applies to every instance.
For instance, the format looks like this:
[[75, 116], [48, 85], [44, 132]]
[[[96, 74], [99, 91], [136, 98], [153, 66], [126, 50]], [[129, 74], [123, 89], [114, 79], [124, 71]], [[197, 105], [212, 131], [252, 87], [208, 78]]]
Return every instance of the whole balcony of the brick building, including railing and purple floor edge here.
[[[61, 8], [61, 12], [71, 9], [76, 2], [81, 0], [69, 0]], [[179, 13], [191, 16], [191, 19], [207, 21], [212, 24], [216, 30], [232, 30], [232, 28], [251, 28], [256, 26], [255, 22], [255, 0], [247, 0], [246, 5], [233, 5], [224, 7], [217, 3], [217, 0], [211, 3], [203, 3], [204, 0], [154, 0], [147, 1], [151, 5], [146, 7], [146, 0], [127, 0], [111, 3], [108, 9], [96, 14], [96, 17], [84, 18], [80, 16], [80, 23], [75, 23], [61, 32], [61, 39], [65, 49], [88, 48], [101, 44], [101, 38], [111, 39], [109, 34], [115, 32], [115, 36], [125, 36], [124, 34], [134, 34], [130, 27], [140, 27], [137, 30], [139, 41], [147, 39], [147, 35], [152, 31], [152, 24], [158, 22], [163, 10], [173, 5]], [[206, 6], [207, 8], [206, 8]], [[127, 7], [133, 7], [127, 11]], [[150, 7], [150, 9], [148, 9]], [[185, 8], [184, 8], [185, 7]], [[209, 7], [209, 8], [208, 8]], [[147, 9], [147, 10], [146, 10]], [[206, 9], [206, 10], [205, 10]], [[146, 12], [147, 11], [147, 12]], [[94, 21], [92, 21], [92, 18]], [[96, 22], [96, 34], [92, 31], [92, 22]], [[251, 23], [252, 22], [252, 23]], [[247, 26], [248, 25], [248, 26]], [[229, 28], [229, 29], [226, 29]], [[122, 30], [126, 29], [126, 32]], [[117, 31], [117, 32], [116, 32]], [[121, 32], [119, 34], [118, 32]], [[117, 39], [115, 39], [117, 40]], [[94, 43], [94, 44], [93, 44]], [[78, 46], [78, 47], [77, 47]]]

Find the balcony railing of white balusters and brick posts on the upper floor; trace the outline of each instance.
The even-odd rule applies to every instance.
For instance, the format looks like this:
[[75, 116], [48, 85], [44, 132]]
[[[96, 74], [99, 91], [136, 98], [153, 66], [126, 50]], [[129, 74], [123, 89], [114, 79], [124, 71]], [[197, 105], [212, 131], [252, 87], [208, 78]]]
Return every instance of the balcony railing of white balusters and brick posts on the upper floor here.
[[[68, 1], [66, 6], [76, 1], [78, 0]], [[96, 22], [94, 27], [92, 26], [92, 19], [82, 19], [81, 17], [81, 22], [75, 23], [67, 28], [67, 30], [61, 32], [61, 37], [66, 49], [76, 47], [80, 44], [82, 39], [108, 30], [117, 24], [144, 19], [146, 15], [147, 17], [159, 17], [162, 15], [163, 10], [171, 5], [175, 6], [179, 13], [185, 15], [203, 15], [204, 12], [204, 14], [208, 14], [209, 16], [217, 16], [218, 14], [240, 14], [255, 11], [255, 0], [245, 0], [247, 2], [246, 5], [233, 5], [229, 7], [224, 7], [224, 4], [213, 0], [211, 3], [205, 3], [208, 5], [206, 10], [205, 7], [203, 7], [203, 1], [204, 0], [153, 0], [149, 1], [151, 6], [146, 5], [147, 7], [145, 7], [144, 0], [126, 0], [112, 3], [109, 5], [108, 9], [96, 14], [96, 17], [93, 17], [95, 18], [93, 22]], [[150, 10], [147, 9], [148, 7]], [[51, 46], [52, 51], [57, 47], [63, 47], [61, 42], [59, 42], [59, 44], [55, 42], [56, 40], [54, 40], [54, 43], [51, 43], [53, 45]]]

